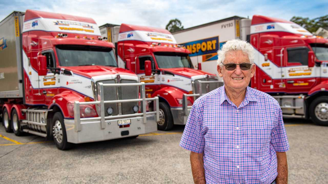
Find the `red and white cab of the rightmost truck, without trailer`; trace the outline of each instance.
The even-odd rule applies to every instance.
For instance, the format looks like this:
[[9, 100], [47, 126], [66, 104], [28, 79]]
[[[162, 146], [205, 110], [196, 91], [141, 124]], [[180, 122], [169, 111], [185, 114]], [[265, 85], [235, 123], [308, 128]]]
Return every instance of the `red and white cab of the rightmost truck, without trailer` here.
[[284, 117], [328, 125], [328, 40], [282, 19], [254, 15], [249, 42], [255, 48], [255, 89], [280, 103]]

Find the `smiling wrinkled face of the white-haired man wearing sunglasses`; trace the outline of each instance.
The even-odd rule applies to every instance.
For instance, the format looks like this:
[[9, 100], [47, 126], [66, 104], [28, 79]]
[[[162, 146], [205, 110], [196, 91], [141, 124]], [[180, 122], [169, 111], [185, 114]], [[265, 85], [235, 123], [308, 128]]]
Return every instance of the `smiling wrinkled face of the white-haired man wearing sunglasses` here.
[[[241, 50], [229, 51], [226, 53], [223, 64], [241, 64], [250, 63], [247, 54]], [[220, 67], [217, 65], [217, 71], [220, 77], [223, 77], [224, 85], [232, 90], [243, 90], [245, 89], [251, 78], [255, 73], [255, 64], [251, 66], [249, 70], [241, 70], [240, 66], [237, 65], [235, 70], [227, 70], [225, 66]]]

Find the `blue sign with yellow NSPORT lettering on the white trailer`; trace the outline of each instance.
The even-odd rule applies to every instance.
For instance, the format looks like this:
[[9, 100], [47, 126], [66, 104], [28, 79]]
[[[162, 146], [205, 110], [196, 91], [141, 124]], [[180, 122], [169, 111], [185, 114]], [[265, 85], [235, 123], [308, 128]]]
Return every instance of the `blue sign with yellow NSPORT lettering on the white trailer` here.
[[189, 54], [190, 57], [192, 56], [199, 56], [204, 54], [211, 54], [216, 53], [219, 46], [219, 37], [211, 37], [202, 40], [196, 40], [188, 43], [183, 43], [180, 45], [186, 46], [186, 48], [191, 52]]

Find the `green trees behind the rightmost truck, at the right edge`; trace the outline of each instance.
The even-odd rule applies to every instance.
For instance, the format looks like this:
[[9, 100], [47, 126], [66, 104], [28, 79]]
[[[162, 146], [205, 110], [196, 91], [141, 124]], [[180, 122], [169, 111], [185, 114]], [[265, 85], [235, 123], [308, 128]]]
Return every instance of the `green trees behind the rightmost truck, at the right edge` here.
[[303, 18], [293, 16], [290, 21], [295, 22], [296, 24], [302, 26], [310, 32], [316, 32], [320, 27], [328, 27], [328, 15], [324, 15], [322, 17], [317, 17], [314, 19], [309, 19], [308, 17]]

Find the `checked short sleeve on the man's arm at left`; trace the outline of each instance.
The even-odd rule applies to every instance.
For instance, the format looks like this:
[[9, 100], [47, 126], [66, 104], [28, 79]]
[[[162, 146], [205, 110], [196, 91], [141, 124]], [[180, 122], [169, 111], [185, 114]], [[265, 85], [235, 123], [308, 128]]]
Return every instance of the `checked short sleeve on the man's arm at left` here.
[[203, 105], [200, 98], [198, 98], [190, 111], [185, 129], [182, 134], [180, 146], [186, 150], [203, 153], [205, 140], [202, 133], [202, 120], [203, 120]]

